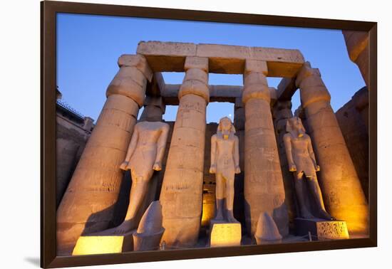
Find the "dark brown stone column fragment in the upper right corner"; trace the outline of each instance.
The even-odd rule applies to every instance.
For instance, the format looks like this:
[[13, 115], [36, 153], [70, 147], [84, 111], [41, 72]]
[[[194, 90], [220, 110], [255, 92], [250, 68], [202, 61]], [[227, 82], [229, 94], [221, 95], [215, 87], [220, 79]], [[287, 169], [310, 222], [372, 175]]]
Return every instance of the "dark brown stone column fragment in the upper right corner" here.
[[368, 32], [342, 31], [350, 59], [358, 65], [366, 86], [369, 85]]

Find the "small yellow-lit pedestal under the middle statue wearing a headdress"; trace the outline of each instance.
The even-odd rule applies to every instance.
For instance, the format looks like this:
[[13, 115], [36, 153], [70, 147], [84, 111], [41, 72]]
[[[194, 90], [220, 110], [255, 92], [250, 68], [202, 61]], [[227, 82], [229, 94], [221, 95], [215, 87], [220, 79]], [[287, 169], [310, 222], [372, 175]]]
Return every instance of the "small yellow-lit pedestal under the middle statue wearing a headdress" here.
[[210, 246], [241, 246], [241, 223], [210, 221]]

